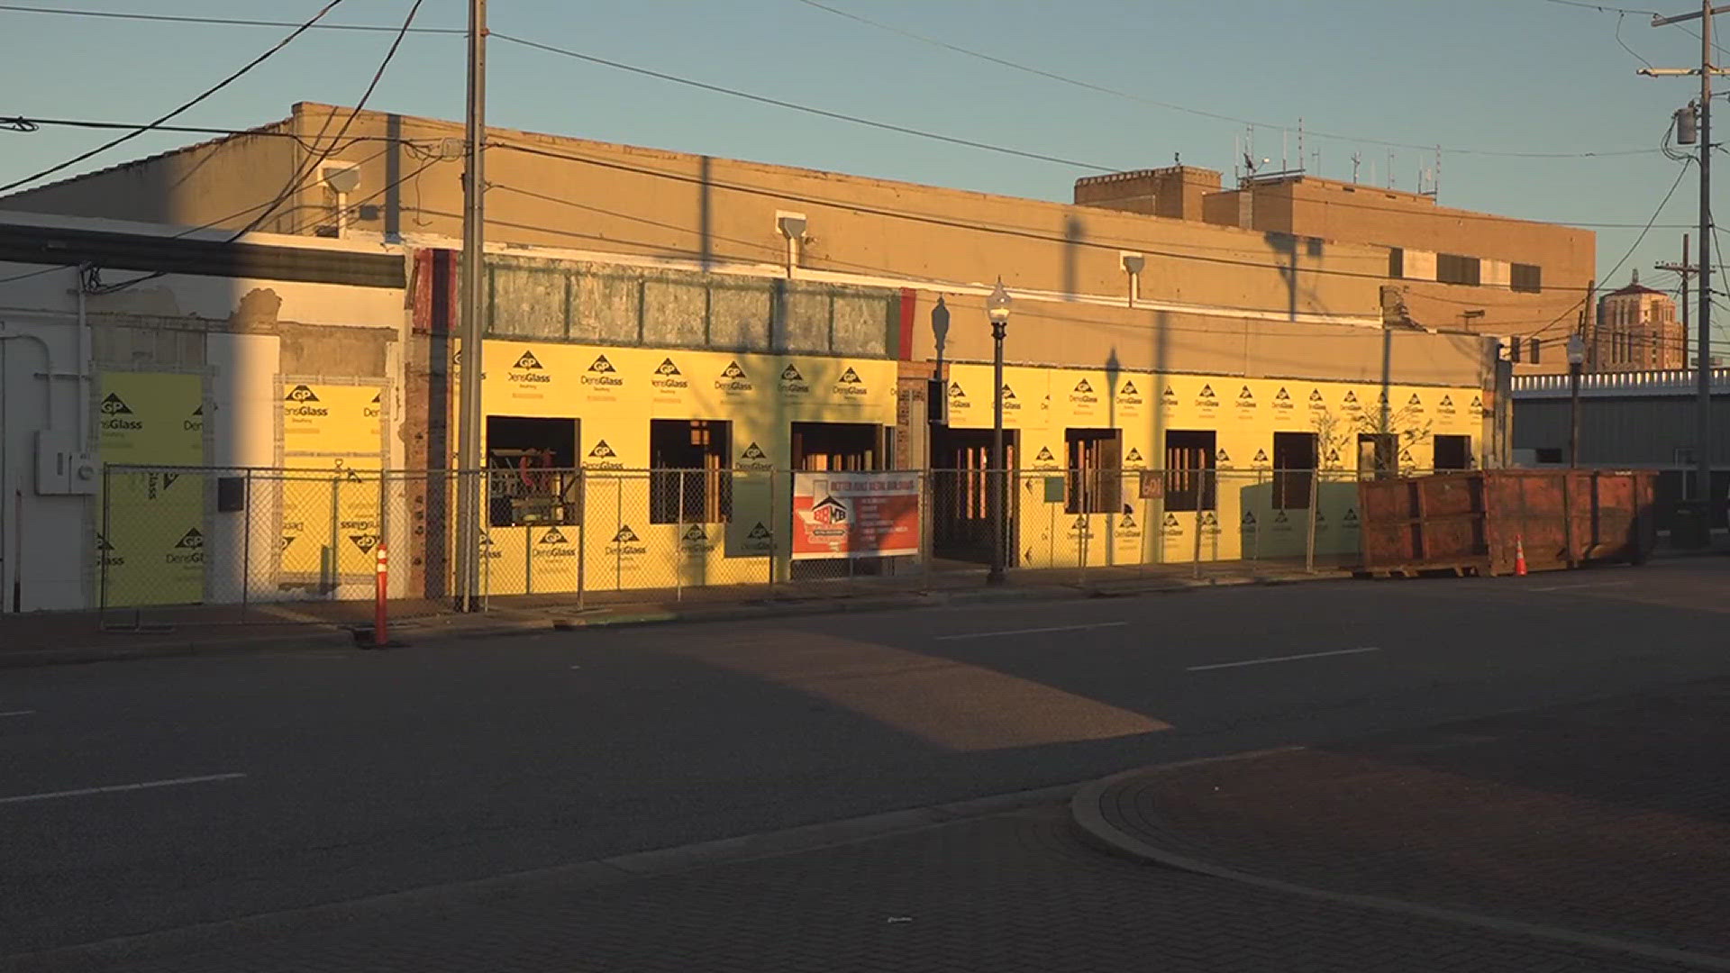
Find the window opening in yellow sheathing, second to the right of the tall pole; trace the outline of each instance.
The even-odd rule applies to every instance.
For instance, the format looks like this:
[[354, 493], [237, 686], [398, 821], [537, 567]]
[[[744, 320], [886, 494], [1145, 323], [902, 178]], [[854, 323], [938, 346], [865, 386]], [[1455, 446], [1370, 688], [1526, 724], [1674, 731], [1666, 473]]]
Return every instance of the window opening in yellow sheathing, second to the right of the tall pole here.
[[732, 422], [649, 421], [649, 521], [725, 523], [734, 516]]

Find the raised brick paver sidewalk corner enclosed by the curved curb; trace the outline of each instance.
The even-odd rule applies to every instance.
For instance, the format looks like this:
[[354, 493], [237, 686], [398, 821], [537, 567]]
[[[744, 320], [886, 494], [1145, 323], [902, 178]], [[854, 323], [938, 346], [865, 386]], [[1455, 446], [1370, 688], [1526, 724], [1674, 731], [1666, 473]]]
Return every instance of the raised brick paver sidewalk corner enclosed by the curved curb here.
[[1730, 957], [1730, 680], [1119, 777], [1187, 859]]

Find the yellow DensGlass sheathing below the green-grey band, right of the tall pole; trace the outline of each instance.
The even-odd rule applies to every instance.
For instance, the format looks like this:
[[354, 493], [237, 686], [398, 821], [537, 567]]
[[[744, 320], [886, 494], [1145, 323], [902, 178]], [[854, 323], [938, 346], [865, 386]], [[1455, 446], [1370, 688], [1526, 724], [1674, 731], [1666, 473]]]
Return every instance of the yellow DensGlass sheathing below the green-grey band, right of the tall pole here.
[[[483, 365], [483, 412], [576, 419], [590, 474], [581, 526], [488, 530], [490, 594], [576, 590], [578, 549], [586, 590], [765, 582], [772, 545], [785, 556], [792, 424], [896, 421], [896, 364], [879, 358], [490, 339]], [[727, 523], [654, 523], [654, 419], [728, 424]]]

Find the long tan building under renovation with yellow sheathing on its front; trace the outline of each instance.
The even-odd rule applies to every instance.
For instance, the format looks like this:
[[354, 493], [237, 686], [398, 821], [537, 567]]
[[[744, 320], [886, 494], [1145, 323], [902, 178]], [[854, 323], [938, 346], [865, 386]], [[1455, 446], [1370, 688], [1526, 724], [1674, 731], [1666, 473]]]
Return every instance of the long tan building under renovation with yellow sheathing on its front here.
[[[1389, 277], [1394, 251], [1367, 230], [1272, 229], [1272, 204], [1242, 225], [1199, 218], [1230, 196], [1206, 170], [1180, 170], [1164, 203], [1137, 203], [1133, 175], [1090, 184], [1100, 204], [1088, 206], [510, 130], [486, 144], [483, 455], [512, 467], [540, 457], [580, 488], [614, 488], [574, 507], [606, 530], [529, 523], [526, 497], [490, 495], [493, 594], [798, 580], [822, 564], [794, 564], [775, 540], [792, 526], [794, 471], [943, 471], [929, 481], [927, 551], [977, 557], [993, 391], [1022, 478], [1009, 525], [1016, 566], [1292, 554], [1308, 532], [1289, 511], [1311, 502], [1329, 525], [1318, 549], [1349, 551], [1356, 476], [1507, 455], [1510, 365], [1490, 336], [1394, 313], [1389, 296], [1403, 293], [1389, 287], [1408, 282]], [[88, 289], [80, 313], [97, 329], [149, 320], [209, 341], [261, 327], [268, 294], [189, 319], [175, 275], [192, 244], [163, 237], [197, 239], [201, 260], [223, 272], [246, 270], [254, 235], [398, 255], [403, 320], [381, 381], [282, 369], [254, 383], [287, 403], [258, 441], [320, 443], [284, 447], [285, 466], [446, 471], [453, 407], [476, 362], [453, 315], [460, 168], [457, 123], [299, 104], [258, 130], [0, 199], [29, 213], [16, 216], [24, 225], [0, 260], [22, 274], [145, 272]], [[97, 248], [67, 216], [204, 229], [128, 232]], [[273, 272], [299, 280], [311, 274], [303, 260], [313, 258], [285, 255]], [[1014, 308], [1005, 383], [993, 390], [984, 300], [996, 279]], [[1510, 294], [1429, 286], [1474, 301]], [[0, 312], [9, 300], [0, 282]], [[322, 360], [299, 346], [284, 355]], [[362, 414], [389, 402], [384, 445], [358, 448], [349, 424], [303, 431], [291, 419], [313, 396]], [[689, 492], [664, 488], [683, 473]], [[1301, 486], [1318, 478], [1323, 488]], [[339, 511], [349, 533], [334, 561], [296, 561], [320, 549], [329, 518], [289, 500], [270, 514], [284, 551], [272, 577], [336, 583], [318, 575], [329, 561], [346, 583], [374, 525], [389, 533], [408, 518], [419, 559], [403, 583], [443, 592], [450, 525], [426, 481], [405, 481], [391, 516]], [[220, 512], [204, 511], [206, 523]], [[571, 564], [592, 571], [573, 582]], [[204, 582], [216, 590], [211, 571]]]

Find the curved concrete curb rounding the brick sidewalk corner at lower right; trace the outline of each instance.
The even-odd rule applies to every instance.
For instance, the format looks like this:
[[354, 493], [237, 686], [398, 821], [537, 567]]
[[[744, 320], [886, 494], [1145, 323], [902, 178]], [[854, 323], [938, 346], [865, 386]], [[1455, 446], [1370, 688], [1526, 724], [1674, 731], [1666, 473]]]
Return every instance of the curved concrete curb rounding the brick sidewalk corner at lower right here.
[[1393, 912], [1401, 916], [1413, 916], [1419, 919], [1453, 923], [1464, 926], [1476, 926], [1483, 930], [1491, 930], [1496, 933], [1521, 935], [1540, 940], [1560, 942], [1574, 947], [1600, 949], [1605, 952], [1618, 952], [1624, 956], [1640, 956], [1645, 959], [1657, 959], [1663, 963], [1678, 963], [1694, 970], [1718, 970], [1730, 971], [1730, 957], [1711, 956], [1704, 952], [1692, 952], [1685, 949], [1669, 949], [1663, 945], [1649, 945], [1642, 942], [1630, 942], [1614, 937], [1602, 937], [1595, 933], [1581, 933], [1574, 930], [1566, 930], [1559, 926], [1543, 926], [1538, 923], [1524, 923], [1519, 919], [1502, 919], [1496, 916], [1479, 916], [1474, 912], [1460, 912], [1455, 909], [1443, 909], [1436, 905], [1422, 905], [1419, 902], [1406, 902], [1400, 899], [1384, 899], [1379, 895], [1356, 895], [1348, 892], [1329, 892], [1325, 888], [1311, 888], [1308, 885], [1298, 885], [1292, 881], [1284, 881], [1277, 878], [1265, 878], [1254, 873], [1239, 871], [1233, 867], [1214, 866], [1189, 855], [1180, 855], [1166, 848], [1150, 845], [1135, 834], [1128, 834], [1111, 824], [1105, 814], [1100, 810], [1100, 800], [1119, 783], [1140, 777], [1144, 774], [1157, 774], [1161, 770], [1171, 770], [1176, 767], [1209, 764], [1221, 760], [1249, 760], [1254, 757], [1268, 757], [1282, 750], [1301, 750], [1301, 748], [1278, 748], [1278, 750], [1261, 750], [1251, 753], [1237, 753], [1230, 757], [1187, 762], [1187, 764], [1166, 764], [1159, 767], [1142, 767], [1135, 770], [1124, 770], [1123, 774], [1112, 774], [1099, 781], [1083, 784], [1073, 798], [1069, 798], [1069, 817], [1085, 841], [1102, 848], [1109, 854], [1126, 857], [1138, 862], [1157, 864], [1166, 867], [1182, 869], [1194, 874], [1204, 874], [1208, 878], [1216, 878], [1221, 881], [1235, 881], [1240, 885], [1249, 885], [1266, 892], [1275, 892], [1280, 895], [1292, 895], [1299, 899], [1313, 899], [1318, 902], [1330, 902], [1336, 905], [1349, 905], [1356, 909], [1374, 909], [1377, 912]]

